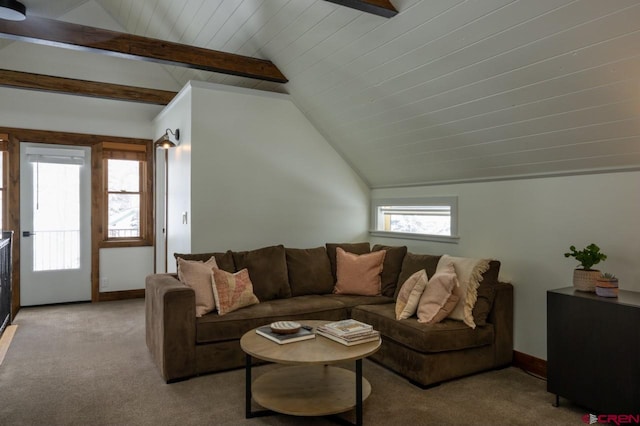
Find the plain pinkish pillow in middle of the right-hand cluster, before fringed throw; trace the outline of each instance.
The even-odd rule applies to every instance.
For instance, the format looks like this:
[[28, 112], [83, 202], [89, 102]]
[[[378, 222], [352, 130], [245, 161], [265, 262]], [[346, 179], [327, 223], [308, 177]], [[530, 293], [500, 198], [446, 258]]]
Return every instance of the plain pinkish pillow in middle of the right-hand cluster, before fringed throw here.
[[458, 277], [450, 263], [427, 283], [418, 303], [418, 322], [435, 324], [446, 318], [460, 300], [457, 291]]

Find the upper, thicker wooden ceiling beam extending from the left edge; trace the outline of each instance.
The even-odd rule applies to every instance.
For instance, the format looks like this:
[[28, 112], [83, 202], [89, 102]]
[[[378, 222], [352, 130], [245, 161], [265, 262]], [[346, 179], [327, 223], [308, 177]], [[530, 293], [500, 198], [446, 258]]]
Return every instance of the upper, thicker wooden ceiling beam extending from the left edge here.
[[35, 16], [28, 16], [24, 21], [0, 19], [0, 37], [277, 83], [287, 82], [280, 70], [265, 59]]

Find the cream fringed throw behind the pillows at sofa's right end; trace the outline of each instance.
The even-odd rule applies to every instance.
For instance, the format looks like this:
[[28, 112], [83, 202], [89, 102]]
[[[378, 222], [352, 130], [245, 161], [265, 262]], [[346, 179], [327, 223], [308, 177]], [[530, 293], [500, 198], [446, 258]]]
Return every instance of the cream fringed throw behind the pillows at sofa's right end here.
[[471, 328], [476, 328], [473, 320], [473, 307], [478, 300], [478, 287], [482, 281], [482, 274], [489, 269], [490, 259], [472, 259], [467, 257], [452, 257], [443, 255], [438, 262], [436, 272], [453, 263], [460, 283], [461, 301], [449, 315], [449, 318], [464, 321]]

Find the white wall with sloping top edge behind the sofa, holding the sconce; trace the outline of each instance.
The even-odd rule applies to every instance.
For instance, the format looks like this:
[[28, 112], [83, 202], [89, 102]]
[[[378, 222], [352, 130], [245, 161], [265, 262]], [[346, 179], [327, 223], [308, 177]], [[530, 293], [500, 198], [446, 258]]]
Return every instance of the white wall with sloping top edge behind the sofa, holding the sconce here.
[[[188, 90], [191, 128], [169, 162], [171, 259], [173, 251], [367, 239], [369, 189], [287, 95], [200, 82]], [[169, 105], [156, 132], [176, 126], [174, 108], [182, 107]], [[174, 174], [189, 157], [190, 183]]]

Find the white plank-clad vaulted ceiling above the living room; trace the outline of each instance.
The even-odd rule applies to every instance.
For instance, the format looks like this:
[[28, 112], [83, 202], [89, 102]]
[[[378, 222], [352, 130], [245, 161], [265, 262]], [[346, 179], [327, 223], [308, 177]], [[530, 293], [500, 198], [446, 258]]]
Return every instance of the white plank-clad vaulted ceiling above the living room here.
[[[95, 1], [124, 32], [271, 61], [287, 83], [157, 66], [178, 88], [289, 93], [374, 188], [640, 168], [637, 0], [391, 0], [391, 18], [323, 0]], [[57, 19], [87, 2], [23, 3]]]

